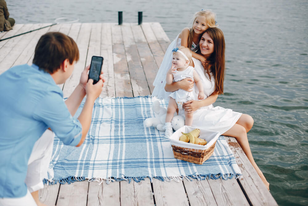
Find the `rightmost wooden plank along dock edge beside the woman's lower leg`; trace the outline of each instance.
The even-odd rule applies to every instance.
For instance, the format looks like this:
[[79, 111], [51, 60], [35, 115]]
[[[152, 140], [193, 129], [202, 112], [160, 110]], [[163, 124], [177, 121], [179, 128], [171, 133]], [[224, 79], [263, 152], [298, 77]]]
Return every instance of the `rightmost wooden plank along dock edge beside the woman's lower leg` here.
[[238, 179], [253, 205], [277, 205], [277, 202], [267, 190], [257, 171], [249, 162], [247, 156], [234, 137], [225, 136], [232, 150], [242, 176]]

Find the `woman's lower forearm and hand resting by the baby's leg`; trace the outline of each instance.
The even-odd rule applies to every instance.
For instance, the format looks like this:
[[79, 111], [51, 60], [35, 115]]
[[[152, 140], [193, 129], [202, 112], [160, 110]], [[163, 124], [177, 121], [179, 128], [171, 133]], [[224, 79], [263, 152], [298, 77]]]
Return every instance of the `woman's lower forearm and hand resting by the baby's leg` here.
[[211, 95], [209, 95], [206, 99], [197, 101], [197, 100], [189, 100], [186, 103], [183, 104], [183, 107], [185, 111], [188, 113], [193, 113], [200, 107], [205, 107], [213, 104], [216, 102], [216, 99], [218, 97], [217, 91], [214, 91]]

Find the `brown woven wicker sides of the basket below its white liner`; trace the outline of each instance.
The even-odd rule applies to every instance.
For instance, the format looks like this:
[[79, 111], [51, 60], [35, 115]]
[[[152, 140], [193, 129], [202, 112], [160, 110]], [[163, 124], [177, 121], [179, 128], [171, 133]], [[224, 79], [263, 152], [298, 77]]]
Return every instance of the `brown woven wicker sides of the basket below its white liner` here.
[[208, 149], [190, 149], [185, 147], [172, 146], [174, 158], [181, 159], [187, 162], [202, 165], [205, 160], [209, 159], [214, 152], [216, 141]]

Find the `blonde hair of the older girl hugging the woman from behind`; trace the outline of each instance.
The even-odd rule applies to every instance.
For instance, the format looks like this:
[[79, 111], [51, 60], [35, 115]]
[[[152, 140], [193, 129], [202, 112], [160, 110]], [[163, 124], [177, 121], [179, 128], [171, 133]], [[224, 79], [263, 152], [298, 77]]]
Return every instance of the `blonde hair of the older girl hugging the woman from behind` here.
[[[206, 21], [206, 25], [209, 28], [213, 28], [213, 27], [218, 27], [218, 24], [216, 22], [216, 15], [215, 13], [213, 13], [211, 10], [202, 10], [202, 11], [198, 11], [197, 13], [194, 14], [193, 16], [193, 24], [195, 23], [197, 17], [205, 17], [205, 21]], [[188, 48], [191, 48], [193, 45], [193, 35], [194, 35], [194, 31], [193, 31], [193, 27], [191, 27], [189, 29], [189, 34], [188, 34]]]

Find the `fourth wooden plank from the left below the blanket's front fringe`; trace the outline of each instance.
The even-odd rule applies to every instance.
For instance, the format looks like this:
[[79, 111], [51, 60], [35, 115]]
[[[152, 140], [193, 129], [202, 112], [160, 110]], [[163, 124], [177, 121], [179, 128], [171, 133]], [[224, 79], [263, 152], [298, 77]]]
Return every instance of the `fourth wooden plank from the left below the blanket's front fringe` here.
[[121, 206], [154, 205], [151, 181], [149, 178], [137, 183], [132, 180], [120, 182]]

